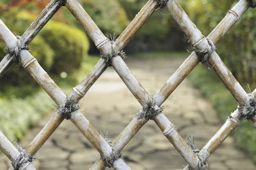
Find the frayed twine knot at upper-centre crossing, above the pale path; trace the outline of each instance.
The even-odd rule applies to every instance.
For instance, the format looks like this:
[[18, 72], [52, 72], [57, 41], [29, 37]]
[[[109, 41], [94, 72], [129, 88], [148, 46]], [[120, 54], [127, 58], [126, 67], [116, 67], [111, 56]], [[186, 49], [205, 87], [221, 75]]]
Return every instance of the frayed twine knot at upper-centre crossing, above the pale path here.
[[101, 52], [101, 57], [102, 57], [102, 59], [104, 59], [106, 61], [108, 66], [111, 66], [111, 59], [118, 56], [118, 55], [122, 59], [126, 58], [125, 52], [119, 51], [118, 47], [116, 46], [116, 43], [115, 43], [116, 38], [117, 38], [117, 34], [114, 34], [113, 37], [110, 35], [110, 38], [109, 38], [109, 41], [110, 41], [110, 44], [111, 44], [110, 51], [106, 54]]

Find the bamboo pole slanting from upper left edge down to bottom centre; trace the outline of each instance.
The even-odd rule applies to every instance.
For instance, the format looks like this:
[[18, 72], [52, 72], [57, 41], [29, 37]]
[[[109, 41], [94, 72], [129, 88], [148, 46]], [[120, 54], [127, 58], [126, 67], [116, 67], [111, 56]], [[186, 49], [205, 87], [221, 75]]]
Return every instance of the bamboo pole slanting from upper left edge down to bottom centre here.
[[[11, 31], [4, 25], [4, 23], [0, 20], [0, 36], [3, 39], [4, 43], [8, 48], [12, 48], [16, 46], [17, 38]], [[44, 88], [44, 90], [49, 94], [52, 100], [60, 105], [66, 101], [65, 93], [54, 83], [54, 81], [50, 78], [50, 76], [45, 72], [45, 70], [38, 64], [36, 59], [26, 50], [22, 50], [19, 52], [20, 62], [31, 75], [35, 79], [35, 81]], [[87, 119], [83, 116], [80, 111], [76, 112], [78, 116], [71, 117], [72, 122], [76, 122], [76, 126], [79, 127], [79, 130], [83, 133], [83, 135], [92, 143], [92, 145], [102, 154], [102, 155], [110, 155], [112, 152], [112, 148], [105, 141], [105, 139], [97, 132], [92, 125], [90, 125]], [[60, 115], [58, 115], [61, 117]], [[58, 119], [61, 120], [61, 119]], [[56, 127], [56, 126], [55, 126]], [[48, 133], [48, 132], [46, 132]], [[39, 146], [40, 147], [40, 146]], [[29, 153], [29, 152], [28, 152]], [[122, 160], [119, 160], [122, 162]], [[119, 164], [116, 164], [119, 165]], [[117, 170], [130, 170], [130, 168], [123, 162], [122, 167], [113, 167]]]

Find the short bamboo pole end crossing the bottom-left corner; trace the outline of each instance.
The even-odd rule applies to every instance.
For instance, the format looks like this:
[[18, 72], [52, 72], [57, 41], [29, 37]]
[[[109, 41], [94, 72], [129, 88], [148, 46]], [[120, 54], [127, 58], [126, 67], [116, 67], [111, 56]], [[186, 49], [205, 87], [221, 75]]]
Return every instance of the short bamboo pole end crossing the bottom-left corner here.
[[[19, 152], [15, 148], [15, 146], [2, 134], [0, 131], [0, 150], [11, 160], [14, 161], [18, 155]], [[22, 170], [35, 170], [34, 167], [31, 165], [31, 163], [28, 163], [23, 166], [25, 169]], [[9, 170], [14, 170], [13, 167], [11, 167]]]

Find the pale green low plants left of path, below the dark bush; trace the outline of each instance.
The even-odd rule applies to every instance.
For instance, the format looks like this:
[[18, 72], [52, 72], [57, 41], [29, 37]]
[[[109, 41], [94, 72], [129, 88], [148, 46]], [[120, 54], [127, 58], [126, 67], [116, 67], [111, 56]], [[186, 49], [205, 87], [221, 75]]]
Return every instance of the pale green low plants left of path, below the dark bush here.
[[25, 99], [0, 99], [0, 131], [11, 141], [22, 139], [30, 127], [52, 111], [53, 102], [44, 91]]

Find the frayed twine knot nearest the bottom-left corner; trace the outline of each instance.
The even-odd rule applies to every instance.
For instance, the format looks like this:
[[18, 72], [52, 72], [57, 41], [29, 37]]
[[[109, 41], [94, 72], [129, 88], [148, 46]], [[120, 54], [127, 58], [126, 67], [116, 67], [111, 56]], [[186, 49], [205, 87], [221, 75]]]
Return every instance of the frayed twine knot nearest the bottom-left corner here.
[[33, 157], [31, 154], [26, 153], [26, 151], [17, 144], [15, 145], [15, 147], [17, 148], [19, 155], [15, 160], [13, 160], [12, 166], [14, 170], [24, 170], [33, 161], [33, 159], [36, 159], [36, 157]]

